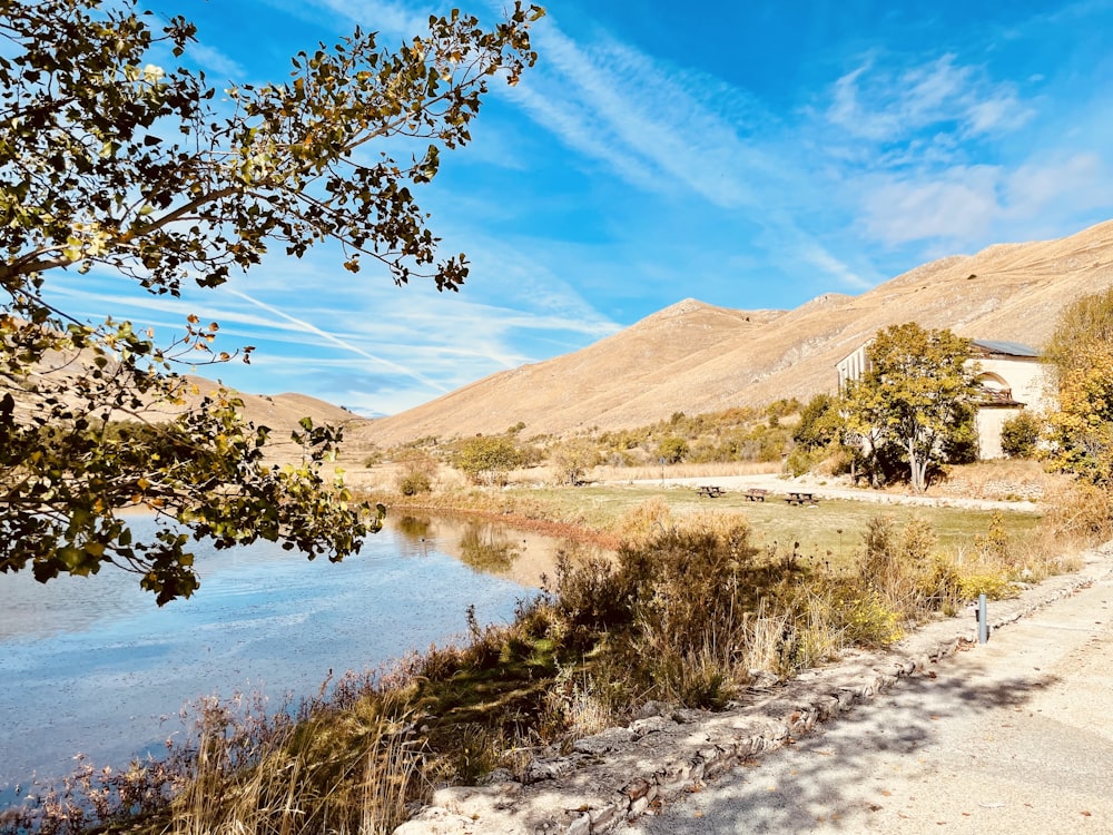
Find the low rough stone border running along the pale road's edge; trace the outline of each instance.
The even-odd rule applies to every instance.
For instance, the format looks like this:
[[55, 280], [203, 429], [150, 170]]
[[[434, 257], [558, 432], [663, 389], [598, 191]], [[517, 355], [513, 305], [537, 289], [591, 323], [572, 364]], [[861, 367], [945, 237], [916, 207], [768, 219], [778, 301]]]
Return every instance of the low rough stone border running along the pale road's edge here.
[[[1012, 600], [991, 605], [999, 629], [1078, 589], [1113, 576], [1113, 542], [1083, 554], [1083, 568], [1052, 578]], [[837, 665], [806, 670], [784, 685], [751, 688], [748, 704], [721, 713], [661, 710], [627, 728], [580, 739], [567, 756], [538, 759], [528, 783], [454, 786], [395, 835], [595, 835], [612, 832], [651, 805], [695, 790], [735, 766], [791, 744], [902, 678], [977, 640], [973, 617], [935, 621], [885, 652], [851, 652]], [[991, 633], [992, 640], [992, 633]]]

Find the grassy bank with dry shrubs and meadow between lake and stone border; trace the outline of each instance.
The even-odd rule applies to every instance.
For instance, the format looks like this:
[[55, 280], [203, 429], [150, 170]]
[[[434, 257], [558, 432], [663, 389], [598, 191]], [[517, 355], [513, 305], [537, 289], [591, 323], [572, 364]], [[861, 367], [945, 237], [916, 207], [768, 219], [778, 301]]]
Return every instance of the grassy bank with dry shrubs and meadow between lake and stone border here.
[[836, 501], [709, 508], [691, 491], [637, 487], [543, 493], [533, 507], [550, 513], [593, 505], [597, 530], [620, 544], [570, 542], [510, 626], [473, 619], [463, 644], [348, 674], [299, 706], [203, 700], [166, 758], [122, 773], [82, 765], [32, 789], [0, 832], [390, 832], [439, 785], [495, 769], [529, 779], [538, 757], [647, 700], [742, 704], [751, 684], [1068, 570], [1067, 539], [1110, 534], [1080, 525], [1100, 514], [1070, 491], [1043, 519]]

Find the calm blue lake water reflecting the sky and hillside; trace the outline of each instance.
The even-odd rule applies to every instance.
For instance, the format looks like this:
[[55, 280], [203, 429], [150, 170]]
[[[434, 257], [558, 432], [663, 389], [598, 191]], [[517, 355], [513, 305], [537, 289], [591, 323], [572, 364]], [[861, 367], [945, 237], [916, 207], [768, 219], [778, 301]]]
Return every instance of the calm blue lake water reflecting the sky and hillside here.
[[114, 767], [161, 752], [197, 697], [262, 691], [277, 705], [316, 694], [331, 670], [376, 669], [465, 633], [469, 606], [481, 623], [509, 621], [558, 547], [413, 517], [335, 564], [270, 543], [199, 547], [201, 588], [161, 609], [110, 568], [46, 586], [0, 574], [0, 800], [33, 774], [68, 774], [78, 752]]

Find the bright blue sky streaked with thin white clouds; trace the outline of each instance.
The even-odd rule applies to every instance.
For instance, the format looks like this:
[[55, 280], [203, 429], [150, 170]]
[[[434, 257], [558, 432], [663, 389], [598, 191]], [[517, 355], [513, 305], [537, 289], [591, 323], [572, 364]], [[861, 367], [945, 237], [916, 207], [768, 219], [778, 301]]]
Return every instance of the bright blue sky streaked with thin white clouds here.
[[[502, 3], [475, 0], [494, 20]], [[148, 0], [199, 27], [209, 80], [280, 80], [355, 24], [392, 46], [447, 4]], [[791, 308], [935, 257], [1113, 217], [1113, 2], [560, 0], [538, 66], [421, 189], [460, 294], [276, 254], [218, 291], [67, 277], [68, 308], [221, 325], [255, 393], [403, 411], [696, 297]], [[209, 370], [211, 372], [211, 370]]]

